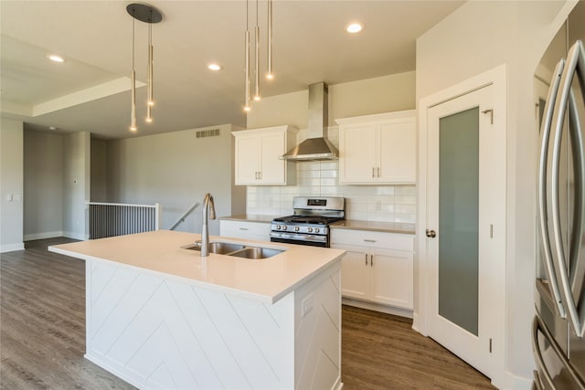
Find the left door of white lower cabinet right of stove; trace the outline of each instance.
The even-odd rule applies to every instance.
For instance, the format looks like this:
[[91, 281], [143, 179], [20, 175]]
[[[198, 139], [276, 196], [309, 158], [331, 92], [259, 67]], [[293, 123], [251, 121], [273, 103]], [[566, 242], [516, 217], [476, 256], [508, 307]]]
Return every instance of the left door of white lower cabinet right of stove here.
[[[346, 249], [341, 260], [341, 294], [359, 300], [369, 299], [369, 257], [365, 252]], [[367, 263], [367, 264], [366, 264]]]

